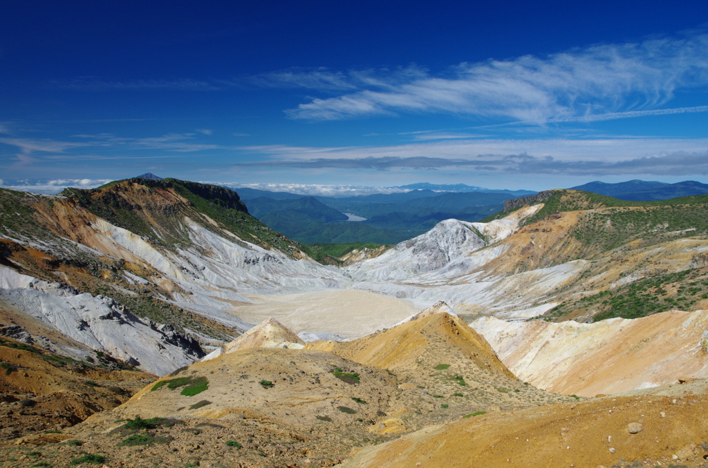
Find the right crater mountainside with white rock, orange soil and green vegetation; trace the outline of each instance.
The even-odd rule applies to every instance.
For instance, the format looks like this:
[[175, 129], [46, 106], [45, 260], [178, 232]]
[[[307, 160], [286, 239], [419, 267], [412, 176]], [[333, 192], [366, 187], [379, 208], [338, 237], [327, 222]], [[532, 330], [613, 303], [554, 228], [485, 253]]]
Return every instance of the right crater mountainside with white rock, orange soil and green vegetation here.
[[[544, 195], [486, 223], [445, 221], [346, 271], [356, 288], [445, 300], [467, 316], [592, 321], [600, 314], [639, 317], [629, 315], [637, 308], [702, 307], [708, 197], [637, 202], [572, 190]], [[682, 283], [690, 284], [677, 296]], [[651, 308], [647, 292], [663, 305]]]

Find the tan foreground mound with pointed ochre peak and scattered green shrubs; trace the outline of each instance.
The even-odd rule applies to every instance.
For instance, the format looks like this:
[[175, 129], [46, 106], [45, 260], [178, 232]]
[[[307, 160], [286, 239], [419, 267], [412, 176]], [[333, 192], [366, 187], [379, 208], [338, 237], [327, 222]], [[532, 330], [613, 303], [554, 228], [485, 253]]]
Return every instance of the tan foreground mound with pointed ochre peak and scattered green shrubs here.
[[[81, 443], [81, 450], [105, 454], [110, 466], [327, 467], [359, 447], [433, 422], [576, 401], [519, 382], [484, 338], [445, 310], [440, 305], [350, 342], [360, 356], [371, 356], [366, 350], [389, 341], [388, 367], [317, 349], [246, 347], [147, 385], [113, 411], [56, 435], [52, 440], [64, 440], [59, 445], [26, 443], [43, 443], [42, 460], [52, 464], [78, 457], [70, 444]], [[249, 343], [272, 341], [273, 327], [261, 324]], [[281, 339], [292, 339], [292, 332], [277, 328]], [[421, 332], [422, 340], [416, 338]], [[236, 340], [230, 348], [243, 341]], [[14, 445], [6, 460], [25, 452]]]

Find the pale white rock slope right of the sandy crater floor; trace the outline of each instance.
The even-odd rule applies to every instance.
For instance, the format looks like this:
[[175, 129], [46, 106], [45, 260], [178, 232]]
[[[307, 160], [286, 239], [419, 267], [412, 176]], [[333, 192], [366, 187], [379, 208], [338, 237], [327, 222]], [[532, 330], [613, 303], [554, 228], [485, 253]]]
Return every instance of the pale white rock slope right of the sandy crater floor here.
[[486, 273], [486, 265], [509, 249], [501, 241], [542, 206], [527, 206], [490, 223], [441, 221], [428, 233], [345, 271], [357, 282], [355, 288], [413, 300], [418, 307], [443, 300], [462, 313], [508, 319], [542, 315], [557, 305], [554, 291], [577, 279], [585, 261], [510, 275]]

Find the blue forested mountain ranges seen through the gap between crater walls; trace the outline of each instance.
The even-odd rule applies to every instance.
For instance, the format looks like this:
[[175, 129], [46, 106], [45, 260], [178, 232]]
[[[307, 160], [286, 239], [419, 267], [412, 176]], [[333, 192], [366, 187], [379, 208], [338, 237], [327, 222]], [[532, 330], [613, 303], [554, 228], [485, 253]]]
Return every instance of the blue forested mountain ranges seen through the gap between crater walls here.
[[[248, 188], [235, 190], [253, 216], [287, 237], [309, 245], [395, 244], [425, 233], [444, 219], [479, 221], [501, 211], [505, 200], [517, 197], [516, 192], [508, 190], [435, 192], [428, 188], [341, 198]], [[535, 194], [527, 190], [518, 193]], [[365, 220], [347, 222], [347, 215]]]

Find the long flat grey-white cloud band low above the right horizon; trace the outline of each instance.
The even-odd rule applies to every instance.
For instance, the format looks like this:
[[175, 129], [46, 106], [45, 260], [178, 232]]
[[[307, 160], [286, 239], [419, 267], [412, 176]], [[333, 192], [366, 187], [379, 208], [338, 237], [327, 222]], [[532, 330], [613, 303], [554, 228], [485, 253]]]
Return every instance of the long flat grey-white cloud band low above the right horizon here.
[[236, 166], [317, 170], [465, 170], [543, 175], [708, 174], [708, 139], [464, 139], [360, 148], [253, 146]]

